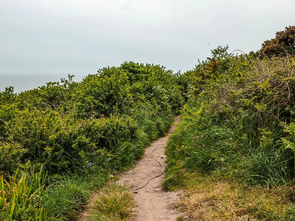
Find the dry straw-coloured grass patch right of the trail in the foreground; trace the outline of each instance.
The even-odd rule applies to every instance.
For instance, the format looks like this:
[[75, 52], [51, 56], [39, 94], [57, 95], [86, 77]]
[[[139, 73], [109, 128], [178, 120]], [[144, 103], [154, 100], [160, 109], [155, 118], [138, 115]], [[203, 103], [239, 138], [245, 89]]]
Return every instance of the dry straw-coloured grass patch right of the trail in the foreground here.
[[276, 220], [270, 217], [285, 217], [292, 206], [285, 187], [267, 190], [206, 178], [190, 185], [194, 190], [183, 195], [179, 208], [191, 220]]

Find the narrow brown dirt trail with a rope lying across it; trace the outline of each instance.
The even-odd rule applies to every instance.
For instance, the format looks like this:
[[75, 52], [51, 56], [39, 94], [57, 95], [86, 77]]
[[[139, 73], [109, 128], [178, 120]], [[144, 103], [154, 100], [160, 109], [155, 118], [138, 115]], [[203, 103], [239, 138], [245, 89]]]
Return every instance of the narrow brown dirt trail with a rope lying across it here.
[[[151, 154], [151, 150], [156, 144], [166, 144], [168, 137], [171, 135], [176, 125], [180, 121], [180, 116], [176, 116], [174, 124], [167, 131], [166, 136], [153, 141], [149, 147], [145, 149], [143, 158], [135, 164], [135, 166], [123, 172], [117, 183], [127, 186], [130, 189], [141, 187], [148, 179], [158, 175], [162, 171], [160, 164], [155, 161]], [[166, 157], [165, 146], [158, 145], [155, 147], [154, 156], [165, 166]], [[173, 205], [179, 200], [178, 192], [164, 192], [162, 183], [164, 175], [152, 179], [145, 187], [138, 189], [137, 193], [133, 193], [137, 207], [135, 211], [135, 221], [175, 221], [178, 215]]]

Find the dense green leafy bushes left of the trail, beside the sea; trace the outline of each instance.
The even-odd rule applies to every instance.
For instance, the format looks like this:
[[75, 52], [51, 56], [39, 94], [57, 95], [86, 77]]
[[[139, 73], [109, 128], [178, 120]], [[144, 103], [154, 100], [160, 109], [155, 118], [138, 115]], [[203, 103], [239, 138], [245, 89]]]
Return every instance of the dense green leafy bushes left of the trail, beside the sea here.
[[[6, 88], [0, 96], [1, 171], [44, 165], [54, 174], [86, 164], [93, 155], [97, 160], [117, 155], [122, 144], [133, 161], [144, 145], [135, 148], [131, 140], [163, 134], [181, 108], [175, 79], [164, 67], [125, 62], [80, 83], [69, 75], [63, 84], [50, 82], [19, 95]], [[139, 122], [150, 124], [151, 131]]]

